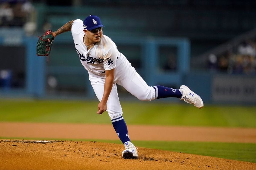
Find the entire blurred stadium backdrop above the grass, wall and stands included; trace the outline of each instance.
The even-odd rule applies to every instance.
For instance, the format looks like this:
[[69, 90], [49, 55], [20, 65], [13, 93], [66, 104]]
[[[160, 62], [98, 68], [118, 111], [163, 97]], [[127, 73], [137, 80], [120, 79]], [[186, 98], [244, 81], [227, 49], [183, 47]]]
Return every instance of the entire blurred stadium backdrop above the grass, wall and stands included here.
[[36, 56], [37, 36], [92, 14], [149, 85], [186, 84], [207, 104], [256, 103], [255, 1], [0, 2], [2, 98], [96, 100], [71, 32], [56, 38], [49, 62]]

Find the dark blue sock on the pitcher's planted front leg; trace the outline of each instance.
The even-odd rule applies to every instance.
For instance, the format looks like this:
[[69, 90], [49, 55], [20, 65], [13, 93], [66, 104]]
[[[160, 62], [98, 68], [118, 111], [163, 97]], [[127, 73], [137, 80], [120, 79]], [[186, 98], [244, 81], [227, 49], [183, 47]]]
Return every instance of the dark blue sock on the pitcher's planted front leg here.
[[120, 116], [116, 119], [111, 119], [112, 125], [117, 133], [117, 136], [123, 142], [123, 144], [127, 141], [130, 141], [128, 129], [126, 123], [123, 119], [123, 116]]

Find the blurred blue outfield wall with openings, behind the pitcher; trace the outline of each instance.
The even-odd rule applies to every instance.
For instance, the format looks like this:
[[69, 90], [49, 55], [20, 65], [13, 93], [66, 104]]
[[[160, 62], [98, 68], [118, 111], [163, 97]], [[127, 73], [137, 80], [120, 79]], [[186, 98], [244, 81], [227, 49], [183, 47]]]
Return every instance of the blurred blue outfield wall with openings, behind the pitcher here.
[[[148, 85], [179, 88], [185, 84], [200, 94], [205, 103], [256, 103], [252, 100], [256, 97], [255, 75], [191, 71], [188, 39], [116, 38], [114, 42]], [[36, 56], [36, 43], [37, 37], [15, 41], [10, 35], [0, 38], [1, 97], [96, 99], [71, 36], [55, 40], [49, 62], [46, 57]], [[130, 94], [119, 87], [119, 95]]]

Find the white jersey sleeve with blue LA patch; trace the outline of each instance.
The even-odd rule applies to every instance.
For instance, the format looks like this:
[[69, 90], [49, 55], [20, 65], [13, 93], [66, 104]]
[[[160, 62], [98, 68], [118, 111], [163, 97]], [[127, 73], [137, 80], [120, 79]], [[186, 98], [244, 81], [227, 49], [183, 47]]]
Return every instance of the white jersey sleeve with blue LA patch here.
[[117, 56], [119, 52], [115, 47], [110, 48], [104, 55], [104, 68], [105, 70], [112, 70], [117, 65]]

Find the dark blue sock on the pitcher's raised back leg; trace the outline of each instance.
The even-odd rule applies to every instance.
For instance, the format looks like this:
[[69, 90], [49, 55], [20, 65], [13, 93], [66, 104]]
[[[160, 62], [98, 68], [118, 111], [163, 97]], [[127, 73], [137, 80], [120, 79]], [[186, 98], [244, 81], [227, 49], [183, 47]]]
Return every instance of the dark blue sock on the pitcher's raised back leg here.
[[168, 88], [168, 87], [164, 87], [161, 85], [154, 86], [153, 88], [155, 88], [155, 98], [156, 99], [161, 99], [161, 98], [166, 98], [166, 97], [181, 98], [181, 96], [182, 96], [179, 89]]

